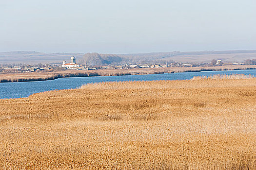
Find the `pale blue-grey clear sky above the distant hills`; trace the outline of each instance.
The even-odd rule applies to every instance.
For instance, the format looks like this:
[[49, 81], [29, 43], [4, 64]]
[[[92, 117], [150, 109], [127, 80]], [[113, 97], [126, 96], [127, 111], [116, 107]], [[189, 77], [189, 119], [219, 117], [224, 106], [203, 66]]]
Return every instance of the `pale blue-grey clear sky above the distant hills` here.
[[256, 0], [0, 0], [0, 52], [256, 50]]

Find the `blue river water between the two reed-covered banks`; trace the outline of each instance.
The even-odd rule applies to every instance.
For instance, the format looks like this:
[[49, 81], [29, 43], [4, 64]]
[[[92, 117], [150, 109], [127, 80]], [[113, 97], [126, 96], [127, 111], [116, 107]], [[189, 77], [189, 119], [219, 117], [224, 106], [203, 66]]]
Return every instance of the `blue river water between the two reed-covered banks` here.
[[56, 80], [47, 80], [40, 82], [0, 83], [0, 99], [28, 97], [31, 94], [43, 91], [77, 88], [87, 83], [119, 81], [186, 80], [191, 79], [194, 76], [209, 76], [215, 74], [256, 75], [256, 70], [202, 71], [131, 76], [74, 77], [59, 78]]

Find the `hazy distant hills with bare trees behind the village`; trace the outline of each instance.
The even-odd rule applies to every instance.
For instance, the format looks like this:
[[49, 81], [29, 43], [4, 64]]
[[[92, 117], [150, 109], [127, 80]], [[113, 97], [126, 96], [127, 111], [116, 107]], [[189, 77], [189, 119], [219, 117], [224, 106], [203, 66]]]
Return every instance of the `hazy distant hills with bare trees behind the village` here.
[[99, 54], [99, 53], [43, 53], [37, 51], [0, 52], [0, 64], [25, 63], [62, 63], [69, 62], [74, 55], [77, 62], [87, 65], [112, 65], [120, 63], [154, 63], [158, 61], [176, 62], [210, 62], [212, 59], [221, 59], [223, 62], [243, 62], [246, 59], [255, 59], [256, 50], [239, 51], [173, 51], [131, 54]]

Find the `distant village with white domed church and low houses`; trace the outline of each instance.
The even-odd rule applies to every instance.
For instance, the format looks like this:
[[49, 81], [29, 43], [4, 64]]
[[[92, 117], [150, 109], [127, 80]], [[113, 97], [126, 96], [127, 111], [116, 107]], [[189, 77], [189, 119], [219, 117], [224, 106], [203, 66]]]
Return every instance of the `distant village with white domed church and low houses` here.
[[224, 65], [256, 65], [256, 59], [245, 60], [244, 62], [227, 62], [223, 63], [221, 60], [212, 60], [210, 63], [180, 63], [180, 62], [166, 62], [156, 64], [120, 64], [117, 66], [86, 66], [76, 62], [76, 57], [73, 55], [70, 58], [70, 63], [63, 61], [62, 64], [2, 64], [0, 65], [0, 72], [51, 72], [56, 70], [97, 70], [97, 69], [131, 69], [131, 68], [172, 68], [172, 67], [210, 67], [210, 66], [224, 66]]

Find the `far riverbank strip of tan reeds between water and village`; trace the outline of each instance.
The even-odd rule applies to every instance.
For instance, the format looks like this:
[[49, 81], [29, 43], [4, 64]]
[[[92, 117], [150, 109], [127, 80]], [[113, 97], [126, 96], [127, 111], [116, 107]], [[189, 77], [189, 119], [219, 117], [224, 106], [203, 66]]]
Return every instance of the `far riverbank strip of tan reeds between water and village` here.
[[55, 72], [31, 72], [0, 74], [0, 83], [7, 82], [33, 82], [54, 80], [65, 77], [92, 77], [92, 76], [123, 76], [138, 74], [162, 74], [175, 72], [200, 72], [200, 71], [222, 71], [222, 70], [243, 70], [256, 69], [253, 65], [239, 66], [217, 66], [198, 68], [136, 68], [136, 69], [100, 69], [100, 70], [65, 70]]

